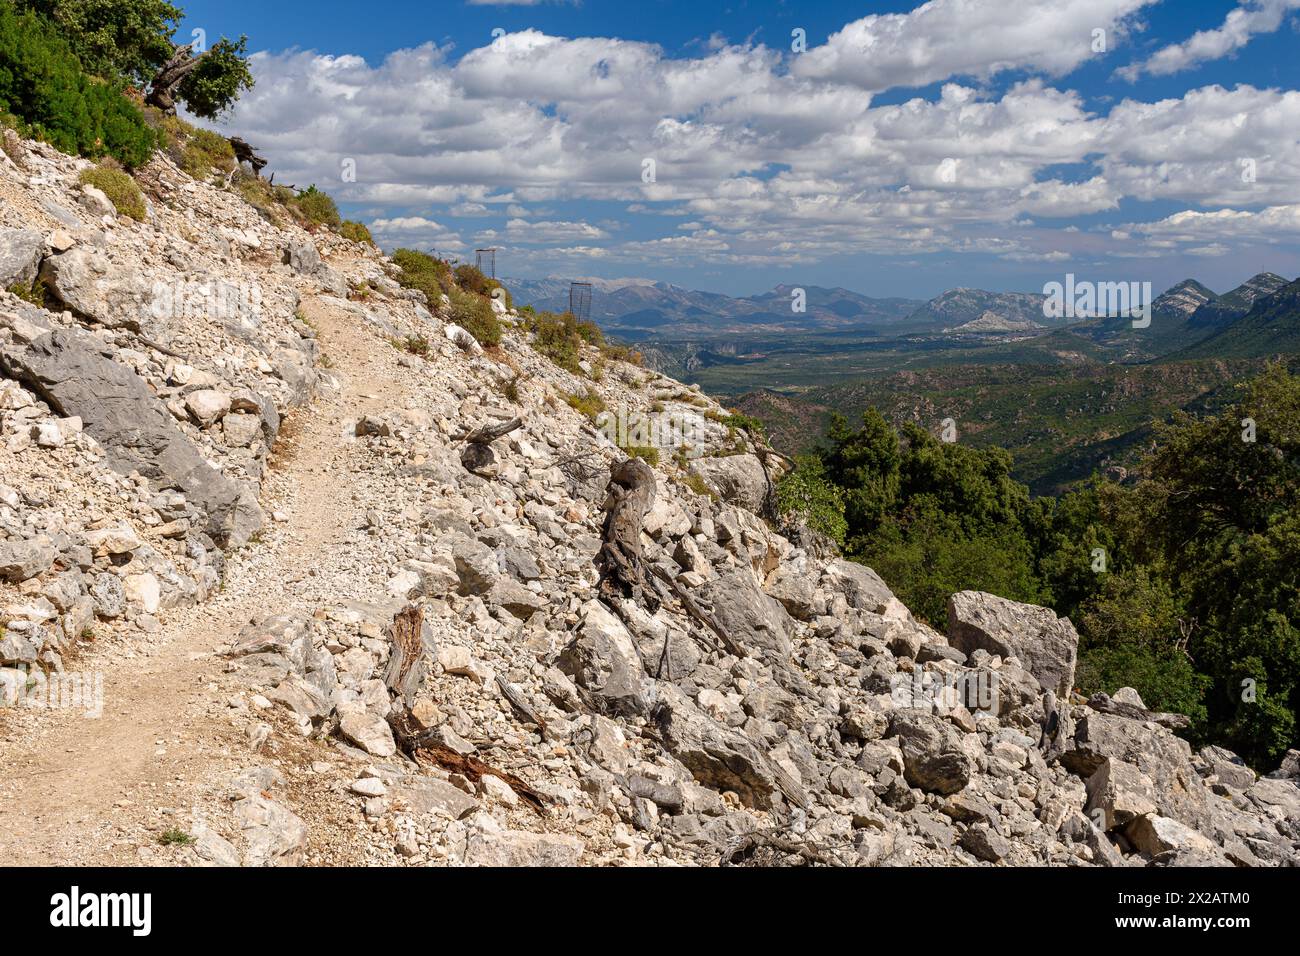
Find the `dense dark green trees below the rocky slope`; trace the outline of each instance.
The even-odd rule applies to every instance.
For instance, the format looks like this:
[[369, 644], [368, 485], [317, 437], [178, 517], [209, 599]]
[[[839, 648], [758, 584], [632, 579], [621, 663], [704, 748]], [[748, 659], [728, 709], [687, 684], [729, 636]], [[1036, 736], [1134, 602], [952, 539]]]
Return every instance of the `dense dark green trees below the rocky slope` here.
[[838, 416], [781, 507], [936, 627], [967, 588], [1050, 605], [1079, 630], [1080, 691], [1135, 687], [1193, 743], [1269, 766], [1300, 743], [1300, 377], [1270, 365], [1239, 392], [1158, 425], [1136, 480], [1061, 498], [1032, 497], [1006, 451]]

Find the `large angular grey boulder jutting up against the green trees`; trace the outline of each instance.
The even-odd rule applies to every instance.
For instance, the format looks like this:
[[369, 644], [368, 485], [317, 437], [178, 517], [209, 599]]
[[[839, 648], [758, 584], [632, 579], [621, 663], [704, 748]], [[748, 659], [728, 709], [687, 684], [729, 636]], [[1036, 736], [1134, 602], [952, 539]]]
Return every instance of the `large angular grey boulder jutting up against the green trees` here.
[[1058, 618], [1050, 607], [961, 591], [948, 598], [948, 643], [966, 654], [987, 650], [1015, 657], [1057, 697], [1067, 698], [1074, 687], [1079, 635], [1069, 618]]

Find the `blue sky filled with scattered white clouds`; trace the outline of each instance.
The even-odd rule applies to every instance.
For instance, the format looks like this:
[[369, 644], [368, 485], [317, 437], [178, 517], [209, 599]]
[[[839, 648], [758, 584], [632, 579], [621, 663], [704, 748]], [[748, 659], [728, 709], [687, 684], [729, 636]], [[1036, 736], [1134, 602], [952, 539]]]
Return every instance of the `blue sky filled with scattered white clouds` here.
[[729, 294], [1300, 273], [1300, 0], [183, 5], [257, 51], [224, 129], [386, 247]]

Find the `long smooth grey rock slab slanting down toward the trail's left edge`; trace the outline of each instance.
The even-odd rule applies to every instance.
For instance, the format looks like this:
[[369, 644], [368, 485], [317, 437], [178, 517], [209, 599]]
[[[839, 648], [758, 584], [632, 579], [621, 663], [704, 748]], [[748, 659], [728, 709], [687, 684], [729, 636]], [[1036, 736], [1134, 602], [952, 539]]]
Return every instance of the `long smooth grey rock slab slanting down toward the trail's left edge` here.
[[91, 336], [51, 332], [0, 354], [0, 368], [57, 414], [79, 416], [114, 471], [138, 471], [157, 488], [183, 492], [207, 514], [207, 532], [218, 544], [240, 545], [263, 525], [255, 493], [216, 471], [139, 376]]

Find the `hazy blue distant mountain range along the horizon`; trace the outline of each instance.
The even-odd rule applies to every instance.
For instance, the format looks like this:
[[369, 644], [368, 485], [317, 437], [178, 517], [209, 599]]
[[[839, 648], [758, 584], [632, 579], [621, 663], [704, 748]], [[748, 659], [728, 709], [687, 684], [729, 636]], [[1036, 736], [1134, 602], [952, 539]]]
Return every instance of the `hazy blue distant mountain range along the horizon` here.
[[[745, 362], [803, 338], [822, 350], [874, 338], [932, 342], [935, 347], [1043, 341], [1053, 351], [1076, 351], [1098, 360], [1150, 362], [1210, 358], [1216, 347], [1231, 349], [1234, 358], [1256, 356], [1270, 349], [1284, 351], [1300, 336], [1294, 294], [1274, 300], [1295, 284], [1271, 272], [1223, 294], [1195, 278], [1184, 280], [1154, 299], [1148, 328], [1134, 328], [1127, 316], [1083, 321], [1049, 317], [1046, 297], [1039, 293], [952, 289], [922, 302], [872, 298], [841, 287], [779, 285], [762, 295], [737, 298], [644, 278], [586, 281], [592, 284], [592, 319], [610, 334], [644, 345], [650, 356], [662, 358], [664, 371], [673, 372]], [[519, 304], [555, 312], [569, 307], [568, 278], [504, 282]], [[798, 293], [802, 311], [794, 308]], [[1247, 316], [1256, 317], [1240, 325]]]

